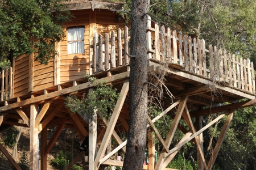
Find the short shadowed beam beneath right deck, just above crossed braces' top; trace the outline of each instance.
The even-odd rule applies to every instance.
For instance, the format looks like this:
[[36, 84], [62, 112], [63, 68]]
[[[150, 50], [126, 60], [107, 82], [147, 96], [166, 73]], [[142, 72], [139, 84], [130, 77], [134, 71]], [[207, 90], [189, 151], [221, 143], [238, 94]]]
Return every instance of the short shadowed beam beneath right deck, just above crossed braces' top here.
[[175, 98], [184, 96], [184, 95], [189, 95], [189, 96], [198, 95], [198, 94], [202, 94], [202, 93], [211, 91], [210, 86], [211, 86], [210, 84], [205, 84], [203, 86], [186, 88], [185, 90], [174, 92], [174, 93], [172, 93], [172, 95], [174, 95]]

